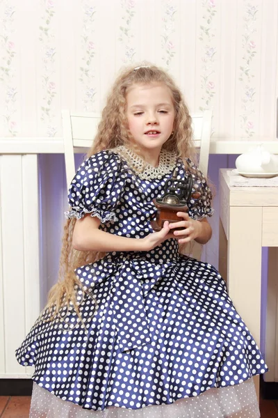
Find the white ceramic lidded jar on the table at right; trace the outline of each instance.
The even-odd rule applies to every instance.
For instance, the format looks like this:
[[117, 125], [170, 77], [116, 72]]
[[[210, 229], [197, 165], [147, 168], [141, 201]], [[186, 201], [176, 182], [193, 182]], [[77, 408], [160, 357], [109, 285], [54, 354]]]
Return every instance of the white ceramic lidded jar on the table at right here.
[[236, 168], [239, 173], [277, 173], [278, 157], [259, 145], [239, 155]]

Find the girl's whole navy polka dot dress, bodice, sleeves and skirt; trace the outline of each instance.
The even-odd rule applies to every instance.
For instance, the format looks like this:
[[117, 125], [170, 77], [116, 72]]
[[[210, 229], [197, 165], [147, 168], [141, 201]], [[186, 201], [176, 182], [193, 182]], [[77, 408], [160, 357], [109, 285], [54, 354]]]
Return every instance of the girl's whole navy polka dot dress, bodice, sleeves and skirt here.
[[[188, 172], [168, 153], [158, 168], [138, 172], [121, 148], [81, 164], [66, 215], [81, 219], [90, 213], [101, 219], [103, 231], [144, 238], [156, 217], [153, 199], [163, 195], [174, 168], [181, 179]], [[188, 167], [193, 191], [201, 192], [188, 212], [202, 219], [212, 214], [211, 191], [190, 160]], [[253, 414], [246, 417], [259, 417], [250, 378], [267, 366], [212, 265], [179, 254], [177, 241], [170, 239], [148, 252], [108, 253], [77, 268], [76, 275], [87, 291], [83, 298], [76, 288], [85, 329], [74, 309], [63, 309], [63, 322], [45, 321], [45, 310], [16, 351], [20, 364], [35, 365], [33, 418], [229, 417], [223, 398], [231, 387], [231, 414], [245, 408]], [[249, 389], [242, 389], [247, 382]], [[239, 401], [246, 390], [241, 398], [247, 401]], [[204, 415], [211, 396], [211, 413], [217, 415]], [[56, 402], [67, 405], [67, 415], [55, 415]], [[48, 412], [36, 414], [40, 408]], [[143, 411], [151, 415], [140, 415]]]

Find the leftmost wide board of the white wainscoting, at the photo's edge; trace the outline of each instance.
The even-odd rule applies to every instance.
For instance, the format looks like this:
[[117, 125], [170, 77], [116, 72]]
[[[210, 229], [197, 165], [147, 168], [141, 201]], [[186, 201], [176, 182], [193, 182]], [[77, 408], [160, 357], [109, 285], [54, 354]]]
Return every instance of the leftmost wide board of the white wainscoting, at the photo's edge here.
[[[14, 350], [25, 334], [22, 156], [1, 156], [3, 310], [6, 373], [22, 373]], [[17, 332], [15, 332], [17, 330]]]

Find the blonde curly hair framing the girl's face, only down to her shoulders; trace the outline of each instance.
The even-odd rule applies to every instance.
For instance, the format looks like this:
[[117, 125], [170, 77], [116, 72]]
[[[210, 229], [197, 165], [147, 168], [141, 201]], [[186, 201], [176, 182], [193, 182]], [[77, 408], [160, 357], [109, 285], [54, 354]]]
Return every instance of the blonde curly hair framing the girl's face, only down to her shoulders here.
[[170, 75], [156, 65], [142, 65], [136, 69], [126, 68], [117, 77], [102, 111], [97, 136], [88, 152], [88, 157], [101, 150], [121, 145], [136, 148], [127, 124], [126, 93], [131, 86], [136, 84], [153, 83], [163, 84], [169, 88], [175, 111], [174, 133], [162, 148], [176, 153], [183, 159], [193, 157], [195, 148], [192, 141], [192, 119], [188, 107]]

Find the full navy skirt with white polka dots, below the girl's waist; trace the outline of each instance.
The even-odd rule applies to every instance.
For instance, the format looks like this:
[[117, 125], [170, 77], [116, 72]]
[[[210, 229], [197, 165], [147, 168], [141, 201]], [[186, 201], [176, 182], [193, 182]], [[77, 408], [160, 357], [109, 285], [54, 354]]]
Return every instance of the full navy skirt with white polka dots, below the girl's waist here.
[[181, 417], [197, 417], [195, 405], [229, 417], [225, 396], [227, 407], [241, 405], [241, 384], [268, 370], [256, 342], [213, 266], [164, 254], [116, 254], [76, 270], [88, 291], [85, 327], [74, 309], [51, 322], [44, 311], [17, 350], [44, 398], [84, 417], [163, 417], [183, 405]]

